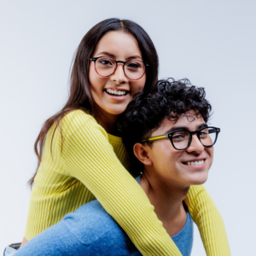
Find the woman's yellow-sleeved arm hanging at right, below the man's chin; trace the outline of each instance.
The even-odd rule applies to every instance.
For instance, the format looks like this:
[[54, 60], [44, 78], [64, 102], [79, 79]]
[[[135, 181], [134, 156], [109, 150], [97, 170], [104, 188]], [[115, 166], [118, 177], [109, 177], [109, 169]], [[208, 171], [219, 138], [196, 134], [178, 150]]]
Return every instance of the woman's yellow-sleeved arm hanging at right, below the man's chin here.
[[191, 186], [185, 198], [208, 256], [230, 256], [223, 219], [203, 185]]

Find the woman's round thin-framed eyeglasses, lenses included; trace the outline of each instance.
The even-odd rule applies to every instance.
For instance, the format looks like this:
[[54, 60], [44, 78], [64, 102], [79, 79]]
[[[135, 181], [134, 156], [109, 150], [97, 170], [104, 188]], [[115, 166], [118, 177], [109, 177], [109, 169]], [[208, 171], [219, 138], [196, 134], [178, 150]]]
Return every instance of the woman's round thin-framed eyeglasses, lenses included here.
[[110, 57], [90, 58], [90, 61], [94, 61], [96, 73], [101, 77], [111, 76], [115, 73], [118, 63], [123, 63], [125, 77], [130, 80], [141, 79], [146, 71], [145, 67], [148, 67], [143, 61], [116, 61]]

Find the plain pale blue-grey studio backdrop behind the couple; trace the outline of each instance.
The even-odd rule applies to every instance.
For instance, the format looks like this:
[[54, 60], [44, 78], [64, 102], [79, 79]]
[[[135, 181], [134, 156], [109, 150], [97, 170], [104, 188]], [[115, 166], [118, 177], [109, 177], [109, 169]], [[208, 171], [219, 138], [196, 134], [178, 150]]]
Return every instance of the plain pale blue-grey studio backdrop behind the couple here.
[[[33, 143], [67, 101], [75, 49], [97, 22], [130, 19], [148, 32], [160, 78], [203, 86], [221, 128], [206, 183], [232, 255], [255, 251], [256, 4], [253, 0], [0, 2], [0, 254], [21, 241], [36, 170]], [[205, 255], [195, 227], [192, 255]]]

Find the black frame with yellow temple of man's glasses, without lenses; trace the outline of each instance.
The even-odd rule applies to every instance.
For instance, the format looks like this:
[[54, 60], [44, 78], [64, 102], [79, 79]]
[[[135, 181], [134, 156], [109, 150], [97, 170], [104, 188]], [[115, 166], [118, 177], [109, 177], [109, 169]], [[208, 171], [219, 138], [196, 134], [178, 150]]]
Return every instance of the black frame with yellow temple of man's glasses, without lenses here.
[[[207, 145], [207, 146], [206, 146], [206, 145], [204, 145], [204, 144], [201, 142], [200, 133], [201, 133], [202, 130], [207, 129], [207, 128], [213, 128], [213, 129], [215, 129], [215, 130], [216, 130], [216, 137], [215, 137], [215, 140], [214, 140], [214, 142], [212, 143], [212, 145]], [[176, 148], [176, 147], [174, 146], [174, 144], [173, 144], [173, 142], [172, 142], [172, 136], [173, 136], [173, 134], [174, 134], [175, 132], [177, 132], [177, 131], [188, 131], [188, 132], [189, 132], [189, 143], [188, 143], [188, 146], [187, 146], [186, 148]], [[220, 128], [217, 128], [217, 127], [214, 127], [214, 126], [206, 126], [206, 127], [201, 128], [201, 129], [198, 130], [198, 131], [189, 131], [189, 130], [187, 130], [187, 129], [177, 129], [177, 130], [175, 130], [175, 131], [169, 132], [169, 133], [164, 134], [164, 135], [155, 136], [155, 137], [149, 137], [148, 139], [143, 140], [142, 143], [153, 143], [154, 141], [159, 141], [159, 140], [164, 139], [164, 138], [169, 138], [169, 140], [170, 140], [171, 143], [172, 143], [172, 147], [173, 147], [173, 148], [175, 148], [175, 149], [177, 149], [177, 150], [184, 150], [184, 149], [189, 148], [189, 146], [190, 146], [190, 144], [191, 144], [191, 142], [192, 142], [192, 135], [193, 135], [193, 134], [196, 134], [197, 137], [198, 137], [198, 139], [199, 139], [199, 141], [201, 142], [201, 144], [202, 144], [204, 147], [210, 148], [210, 147], [212, 147], [212, 146], [217, 142], [217, 138], [218, 138], [218, 133], [219, 133], [219, 132], [220, 132]]]

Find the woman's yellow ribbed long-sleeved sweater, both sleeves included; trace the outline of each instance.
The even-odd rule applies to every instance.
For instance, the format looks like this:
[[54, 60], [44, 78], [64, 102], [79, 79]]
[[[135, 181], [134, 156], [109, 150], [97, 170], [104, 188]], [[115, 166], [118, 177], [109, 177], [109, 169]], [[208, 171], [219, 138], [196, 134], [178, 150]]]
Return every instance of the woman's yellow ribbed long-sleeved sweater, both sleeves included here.
[[[82, 110], [68, 113], [44, 144], [32, 187], [26, 221], [27, 240], [58, 223], [68, 212], [97, 199], [130, 236], [143, 255], [181, 255], [154, 213], [154, 207], [124, 166], [128, 155], [121, 138], [109, 135]], [[224, 223], [204, 186], [191, 186], [185, 199], [207, 255], [230, 255]]]

